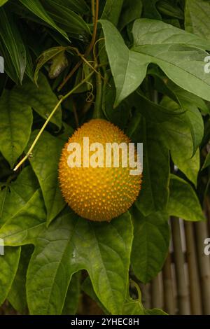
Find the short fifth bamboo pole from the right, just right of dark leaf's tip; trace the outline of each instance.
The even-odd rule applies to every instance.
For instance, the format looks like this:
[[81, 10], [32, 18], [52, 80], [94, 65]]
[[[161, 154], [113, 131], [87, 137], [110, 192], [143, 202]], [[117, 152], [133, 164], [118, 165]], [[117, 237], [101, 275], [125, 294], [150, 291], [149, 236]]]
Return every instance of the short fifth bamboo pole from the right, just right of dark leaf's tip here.
[[152, 308], [163, 308], [162, 298], [162, 274], [159, 273], [151, 282], [151, 306]]

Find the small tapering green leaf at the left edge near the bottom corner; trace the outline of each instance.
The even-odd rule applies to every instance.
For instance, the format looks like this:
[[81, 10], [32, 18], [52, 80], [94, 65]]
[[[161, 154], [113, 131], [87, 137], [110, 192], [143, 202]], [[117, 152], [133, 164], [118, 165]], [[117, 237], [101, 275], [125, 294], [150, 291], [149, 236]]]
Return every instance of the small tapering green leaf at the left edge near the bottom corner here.
[[0, 255], [0, 305], [8, 295], [18, 269], [21, 248], [7, 247]]

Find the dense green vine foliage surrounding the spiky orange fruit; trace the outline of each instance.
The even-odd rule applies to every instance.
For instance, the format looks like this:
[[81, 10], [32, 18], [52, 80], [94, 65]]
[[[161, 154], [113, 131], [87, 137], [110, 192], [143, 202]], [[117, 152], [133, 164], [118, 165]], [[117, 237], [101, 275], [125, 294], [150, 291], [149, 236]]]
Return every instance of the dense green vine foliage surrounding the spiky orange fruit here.
[[[204, 220], [209, 13], [201, 0], [0, 0], [0, 304], [85, 314], [90, 295], [106, 314], [164, 314], [144, 309], [138, 282], [162, 269], [169, 216]], [[111, 223], [73, 214], [57, 182], [62, 146], [96, 117], [144, 143], [139, 199]]]

